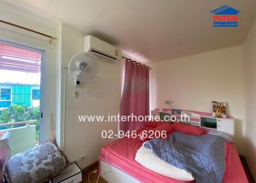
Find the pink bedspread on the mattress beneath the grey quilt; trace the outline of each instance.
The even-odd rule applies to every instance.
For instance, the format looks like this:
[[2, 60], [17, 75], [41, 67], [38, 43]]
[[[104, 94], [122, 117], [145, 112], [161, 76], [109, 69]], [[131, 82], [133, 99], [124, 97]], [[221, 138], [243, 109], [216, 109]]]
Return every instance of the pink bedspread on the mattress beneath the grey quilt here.
[[[160, 175], [154, 171], [144, 168], [139, 163], [137, 163], [134, 157], [138, 148], [140, 148], [142, 144], [143, 142], [139, 139], [117, 139], [116, 141], [108, 143], [102, 147], [100, 161], [106, 161], [107, 163], [113, 164], [113, 166], [116, 166], [116, 168], [119, 168], [140, 182], [183, 182]], [[226, 143], [226, 164], [227, 166], [225, 170], [225, 177], [223, 180], [224, 183], [248, 182], [234, 143]]]

